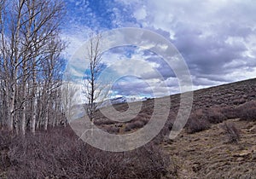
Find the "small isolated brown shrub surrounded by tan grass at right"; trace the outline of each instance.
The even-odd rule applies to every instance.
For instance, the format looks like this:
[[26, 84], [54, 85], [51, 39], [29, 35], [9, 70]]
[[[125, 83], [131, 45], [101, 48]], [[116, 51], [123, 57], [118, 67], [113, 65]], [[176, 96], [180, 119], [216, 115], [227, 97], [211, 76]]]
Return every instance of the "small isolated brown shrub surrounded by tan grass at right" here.
[[228, 136], [228, 142], [237, 143], [240, 140], [240, 130], [236, 128], [235, 124], [224, 123], [221, 125], [226, 136]]

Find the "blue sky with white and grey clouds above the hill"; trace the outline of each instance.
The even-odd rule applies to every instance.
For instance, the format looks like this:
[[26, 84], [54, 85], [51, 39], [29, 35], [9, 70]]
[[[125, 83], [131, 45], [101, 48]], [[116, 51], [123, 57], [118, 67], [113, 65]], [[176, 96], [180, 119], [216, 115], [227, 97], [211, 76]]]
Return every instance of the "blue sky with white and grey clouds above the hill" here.
[[[61, 37], [68, 41], [67, 59], [90, 32], [137, 27], [170, 41], [186, 62], [193, 90], [256, 78], [256, 3], [253, 0], [65, 0], [67, 17]], [[143, 78], [124, 76], [113, 94], [152, 95], [148, 85], [165, 84], [178, 93], [178, 80], [160, 55], [136, 46], [117, 47], [102, 55], [106, 65], [139, 59], [153, 66], [156, 78], [142, 63]], [[122, 66], [124, 69], [125, 66]], [[131, 69], [131, 71], [134, 69]], [[131, 72], [131, 74], [133, 74]], [[147, 75], [146, 75], [147, 74]], [[157, 96], [166, 95], [159, 91]]]

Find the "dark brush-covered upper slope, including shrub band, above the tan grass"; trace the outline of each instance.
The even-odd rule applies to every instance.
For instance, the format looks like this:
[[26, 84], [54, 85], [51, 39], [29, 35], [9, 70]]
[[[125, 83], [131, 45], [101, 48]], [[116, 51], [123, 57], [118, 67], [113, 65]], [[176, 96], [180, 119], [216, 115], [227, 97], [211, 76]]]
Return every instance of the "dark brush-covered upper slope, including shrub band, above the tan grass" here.
[[[171, 96], [172, 107], [166, 122], [166, 129], [172, 129], [179, 107], [179, 97], [179, 95]], [[116, 105], [115, 109], [124, 112], [127, 107], [127, 104], [124, 103]], [[153, 108], [154, 100], [143, 101], [140, 113], [127, 123], [110, 120], [98, 112], [96, 113], [95, 123], [102, 129], [108, 130], [108, 127], [112, 126], [113, 128], [119, 128], [120, 132], [130, 132], [142, 128], [148, 123]], [[255, 120], [255, 109], [256, 79], [197, 90], [195, 91], [193, 109], [186, 130], [188, 133], [200, 132], [209, 129], [211, 124], [222, 123], [229, 118]]]

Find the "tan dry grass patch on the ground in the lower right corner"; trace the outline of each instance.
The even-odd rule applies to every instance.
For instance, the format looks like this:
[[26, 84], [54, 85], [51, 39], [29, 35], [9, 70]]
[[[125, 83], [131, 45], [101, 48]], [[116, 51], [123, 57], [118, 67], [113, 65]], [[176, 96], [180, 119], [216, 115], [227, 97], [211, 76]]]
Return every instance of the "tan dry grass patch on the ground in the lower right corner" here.
[[162, 145], [170, 153], [177, 178], [256, 178], [256, 122], [238, 118], [225, 122], [241, 130], [238, 143], [228, 142], [221, 123], [195, 134], [182, 131]]

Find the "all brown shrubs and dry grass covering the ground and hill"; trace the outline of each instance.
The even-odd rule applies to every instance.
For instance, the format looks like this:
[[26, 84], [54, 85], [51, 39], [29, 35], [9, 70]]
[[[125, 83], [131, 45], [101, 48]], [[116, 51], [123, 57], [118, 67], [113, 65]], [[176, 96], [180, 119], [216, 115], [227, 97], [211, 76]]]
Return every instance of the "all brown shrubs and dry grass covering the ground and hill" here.
[[[179, 107], [145, 147], [103, 152], [79, 141], [69, 127], [36, 136], [0, 136], [2, 178], [253, 178], [256, 176], [256, 79], [195, 91], [185, 129], [166, 140]], [[127, 110], [127, 104], [114, 106]], [[116, 122], [96, 113], [95, 124], [113, 134], [134, 132], [148, 123], [154, 100], [143, 101], [136, 118]], [[166, 142], [167, 141], [167, 142]], [[164, 151], [161, 151], [161, 147]]]

